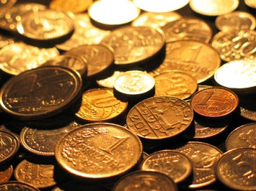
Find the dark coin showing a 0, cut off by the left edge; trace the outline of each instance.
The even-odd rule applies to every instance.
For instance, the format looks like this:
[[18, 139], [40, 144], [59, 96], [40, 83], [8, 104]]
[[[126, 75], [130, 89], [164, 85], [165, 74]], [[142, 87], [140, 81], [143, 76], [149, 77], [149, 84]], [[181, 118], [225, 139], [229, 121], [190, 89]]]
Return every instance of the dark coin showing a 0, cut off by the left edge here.
[[0, 131], [0, 162], [9, 162], [19, 150], [19, 139], [11, 133]]

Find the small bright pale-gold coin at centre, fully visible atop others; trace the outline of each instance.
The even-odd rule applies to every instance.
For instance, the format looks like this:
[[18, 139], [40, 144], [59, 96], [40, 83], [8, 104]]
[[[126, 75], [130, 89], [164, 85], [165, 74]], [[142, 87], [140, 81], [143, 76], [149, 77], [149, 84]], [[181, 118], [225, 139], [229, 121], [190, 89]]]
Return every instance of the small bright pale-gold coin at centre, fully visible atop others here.
[[155, 80], [149, 73], [131, 70], [115, 78], [114, 89], [125, 97], [140, 97], [154, 90]]

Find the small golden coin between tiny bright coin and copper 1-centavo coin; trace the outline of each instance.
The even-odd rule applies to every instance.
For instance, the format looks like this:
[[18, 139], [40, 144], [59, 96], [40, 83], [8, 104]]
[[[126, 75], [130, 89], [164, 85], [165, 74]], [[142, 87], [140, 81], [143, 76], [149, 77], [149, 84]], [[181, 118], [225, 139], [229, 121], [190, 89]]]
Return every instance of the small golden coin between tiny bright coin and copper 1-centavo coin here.
[[198, 81], [183, 71], [171, 70], [154, 76], [155, 95], [171, 95], [180, 99], [190, 98], [198, 90]]

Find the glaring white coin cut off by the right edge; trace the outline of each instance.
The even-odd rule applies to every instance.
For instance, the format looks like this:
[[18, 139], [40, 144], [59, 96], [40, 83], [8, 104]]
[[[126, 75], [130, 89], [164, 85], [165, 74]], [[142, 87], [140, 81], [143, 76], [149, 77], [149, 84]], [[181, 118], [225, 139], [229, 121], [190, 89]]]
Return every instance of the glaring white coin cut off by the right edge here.
[[233, 60], [221, 65], [214, 79], [216, 83], [236, 93], [256, 92], [256, 60]]

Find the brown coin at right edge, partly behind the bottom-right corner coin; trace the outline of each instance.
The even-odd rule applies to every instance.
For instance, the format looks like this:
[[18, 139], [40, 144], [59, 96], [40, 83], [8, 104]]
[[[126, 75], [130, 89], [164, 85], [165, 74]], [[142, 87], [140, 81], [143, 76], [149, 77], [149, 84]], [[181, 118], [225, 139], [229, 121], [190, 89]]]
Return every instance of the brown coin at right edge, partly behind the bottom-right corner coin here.
[[226, 150], [252, 148], [256, 149], [256, 123], [245, 124], [234, 129], [226, 138]]

